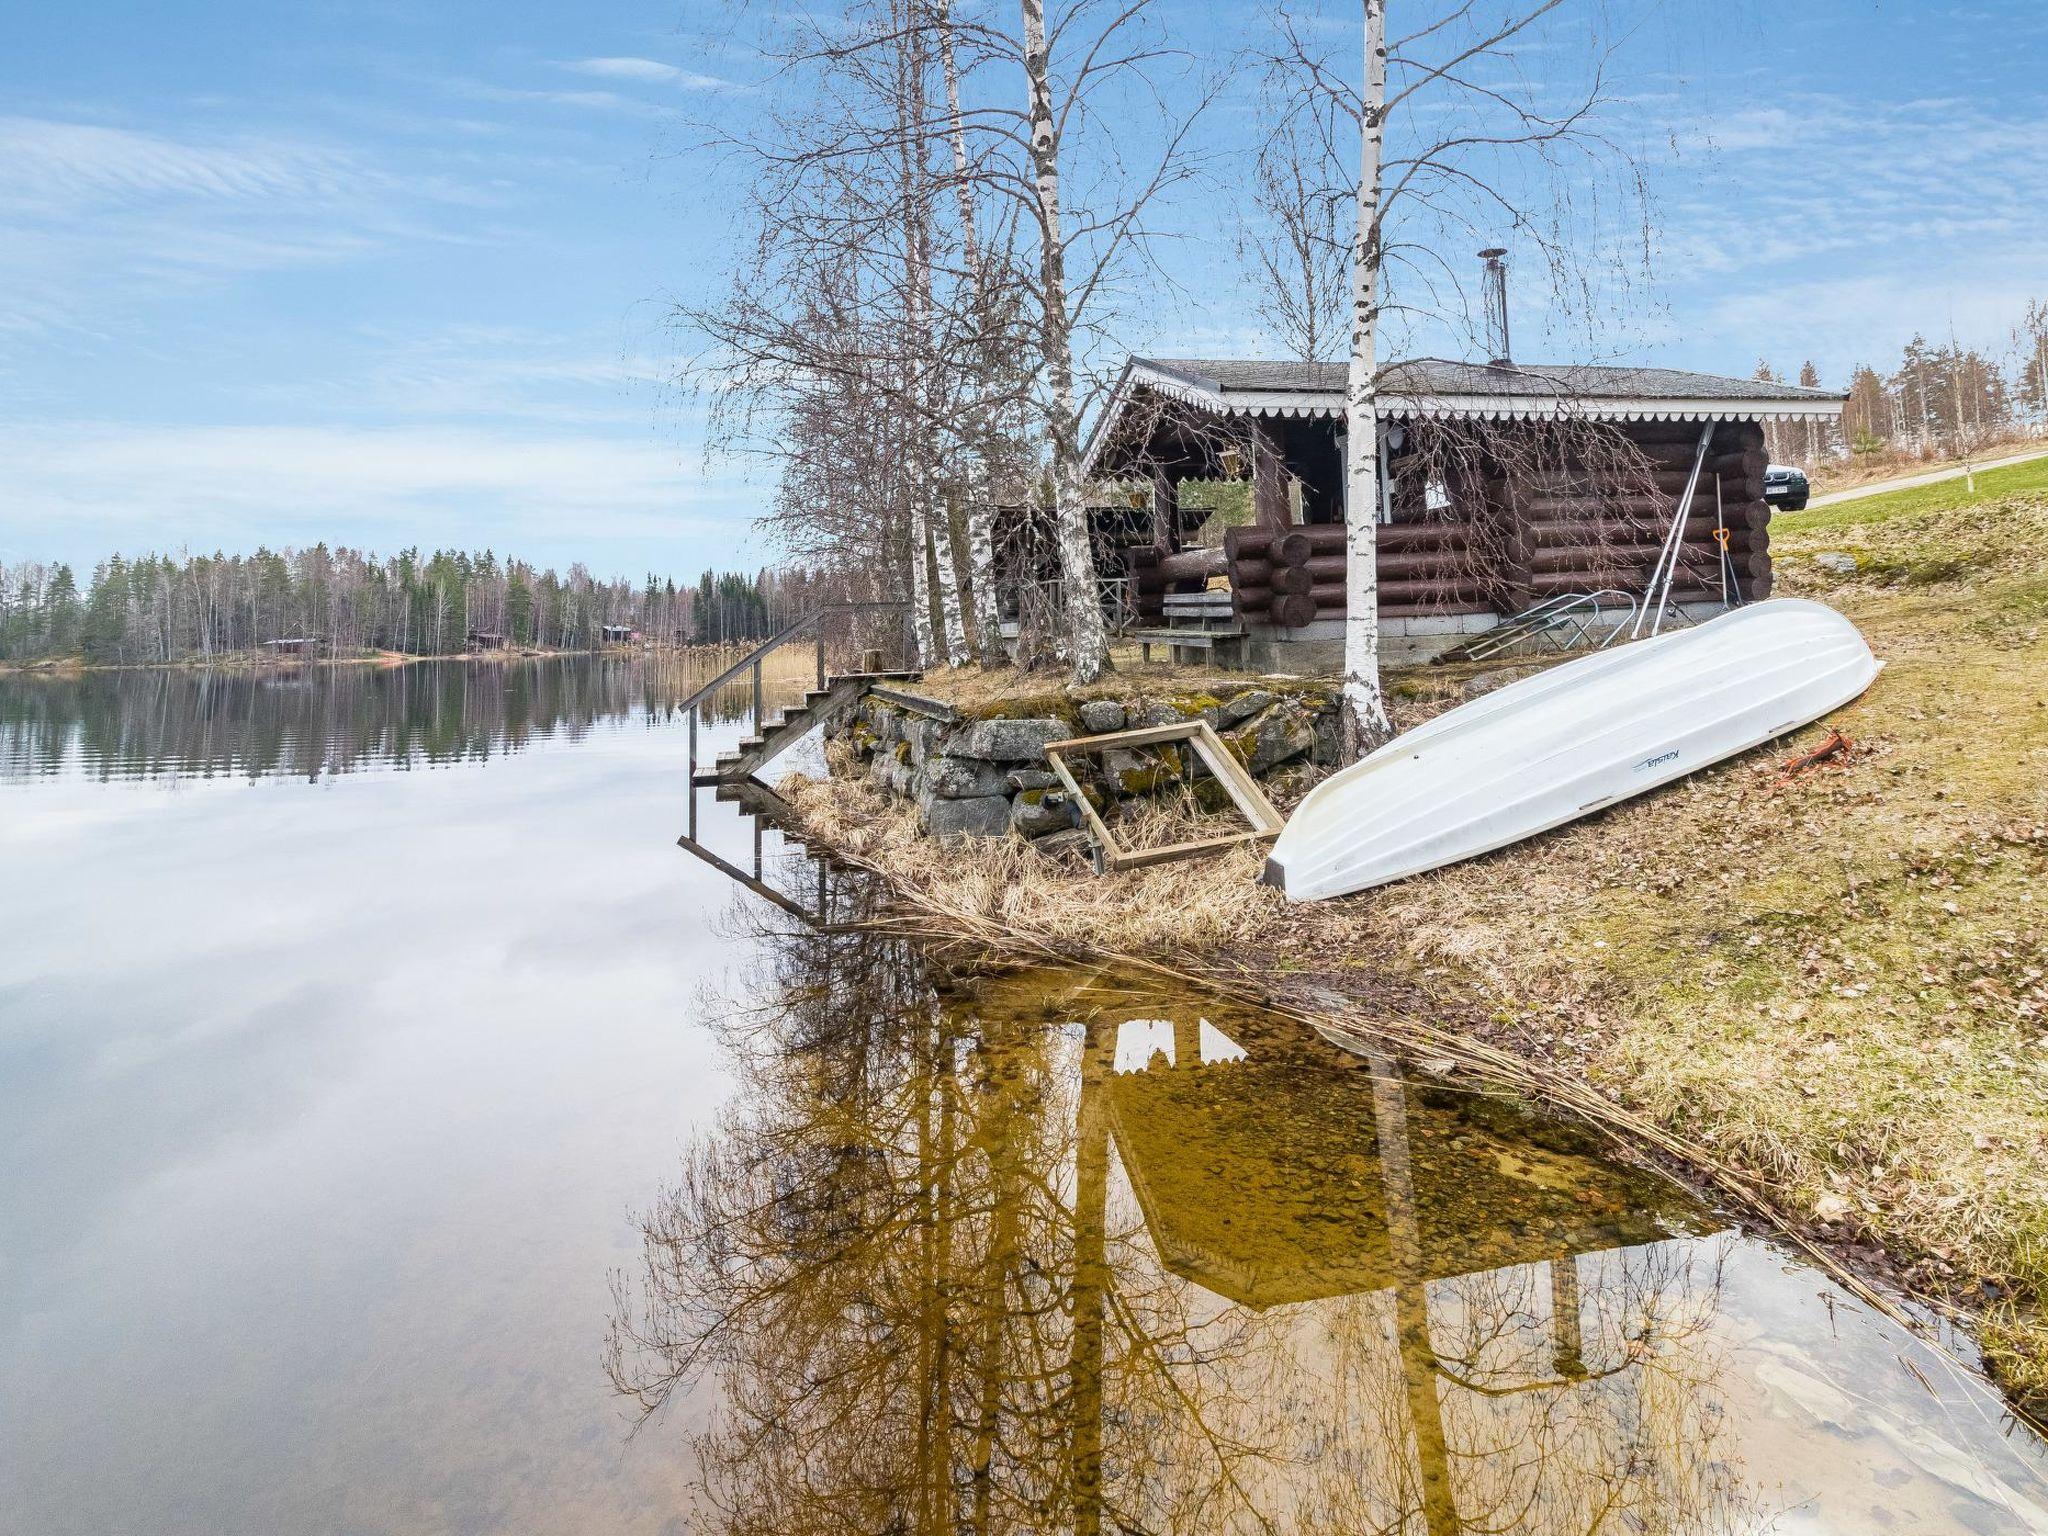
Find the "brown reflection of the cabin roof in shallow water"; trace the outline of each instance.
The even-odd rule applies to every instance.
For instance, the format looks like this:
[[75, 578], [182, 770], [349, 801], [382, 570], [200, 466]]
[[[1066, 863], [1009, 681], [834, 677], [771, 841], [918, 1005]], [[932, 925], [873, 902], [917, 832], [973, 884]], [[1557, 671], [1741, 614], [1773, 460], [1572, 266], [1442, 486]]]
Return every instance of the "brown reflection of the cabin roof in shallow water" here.
[[[1253, 1309], [1655, 1243], [1681, 1208], [1653, 1180], [1591, 1176], [1540, 1128], [1477, 1120], [1452, 1139], [1403, 1130], [1395, 1192], [1362, 1059], [1286, 1040], [1247, 1053], [1204, 1018], [1120, 1024], [1108, 1100], [1161, 1264]], [[1413, 1212], [1407, 1253], [1395, 1198]]]

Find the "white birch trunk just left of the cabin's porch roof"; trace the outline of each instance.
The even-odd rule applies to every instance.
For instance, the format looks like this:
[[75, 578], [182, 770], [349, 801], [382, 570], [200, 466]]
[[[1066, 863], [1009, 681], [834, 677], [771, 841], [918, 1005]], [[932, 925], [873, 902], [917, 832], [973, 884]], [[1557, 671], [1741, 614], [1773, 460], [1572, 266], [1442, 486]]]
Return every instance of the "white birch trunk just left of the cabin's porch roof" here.
[[[1370, 0], [1380, 4], [1382, 0]], [[1075, 682], [1094, 682], [1108, 664], [1096, 551], [1087, 541], [1087, 494], [1081, 483], [1081, 428], [1073, 401], [1073, 336], [1067, 324], [1067, 244], [1059, 217], [1059, 139], [1053, 127], [1051, 59], [1044, 0], [1024, 6], [1024, 78], [1030, 86], [1030, 156], [1038, 186], [1040, 303], [1049, 385], [1047, 436], [1053, 446], [1053, 518], [1059, 575], [1067, 590], [1067, 655]]]

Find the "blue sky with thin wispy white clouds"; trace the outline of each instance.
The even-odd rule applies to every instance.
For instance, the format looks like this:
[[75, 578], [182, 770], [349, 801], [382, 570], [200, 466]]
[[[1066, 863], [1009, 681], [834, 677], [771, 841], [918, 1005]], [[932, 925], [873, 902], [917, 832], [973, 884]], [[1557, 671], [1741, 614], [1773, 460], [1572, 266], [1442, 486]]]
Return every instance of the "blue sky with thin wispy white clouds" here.
[[[764, 100], [737, 10], [8, 6], [0, 561], [315, 539], [623, 575], [768, 559], [768, 487], [707, 461], [666, 324], [733, 236], [729, 172], [686, 145]], [[1198, 55], [1262, 25], [1169, 10]], [[2048, 297], [2044, 78], [2038, 0], [1669, 0], [1616, 76], [1655, 145], [1657, 283], [1597, 348], [1839, 381], [1915, 330], [2001, 344]], [[1210, 119], [1206, 197], [1229, 201], [1245, 125]], [[1118, 338], [1260, 350], [1227, 233], [1188, 231]]]

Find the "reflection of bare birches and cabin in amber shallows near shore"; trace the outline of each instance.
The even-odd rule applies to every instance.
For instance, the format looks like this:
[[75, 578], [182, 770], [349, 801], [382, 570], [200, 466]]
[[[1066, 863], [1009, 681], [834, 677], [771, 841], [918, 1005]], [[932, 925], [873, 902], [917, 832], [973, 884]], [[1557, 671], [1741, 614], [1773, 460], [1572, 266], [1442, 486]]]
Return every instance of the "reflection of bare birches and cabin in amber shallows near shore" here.
[[[649, 1415], [715, 1386], [709, 1528], [1757, 1524], [1712, 1247], [1659, 1239], [1640, 1184], [1270, 1024], [1208, 1014], [1249, 1055], [1196, 1065], [1188, 999], [803, 926], [762, 952], [774, 1006], [725, 1020], [739, 1092], [610, 1333]], [[1165, 1020], [1178, 1065], [1118, 1073], [1126, 1020]]]

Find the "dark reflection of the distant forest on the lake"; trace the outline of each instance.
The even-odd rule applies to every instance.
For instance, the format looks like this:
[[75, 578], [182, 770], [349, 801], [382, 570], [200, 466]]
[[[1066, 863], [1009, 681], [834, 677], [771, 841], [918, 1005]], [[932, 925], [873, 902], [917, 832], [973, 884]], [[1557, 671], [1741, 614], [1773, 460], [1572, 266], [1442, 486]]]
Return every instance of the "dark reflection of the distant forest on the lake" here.
[[[0, 776], [78, 766], [96, 778], [281, 774], [453, 764], [666, 719], [700, 670], [659, 657], [422, 662], [293, 672], [135, 670], [0, 684]], [[721, 690], [715, 721], [750, 692]]]

